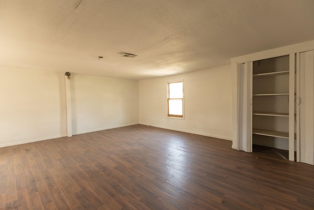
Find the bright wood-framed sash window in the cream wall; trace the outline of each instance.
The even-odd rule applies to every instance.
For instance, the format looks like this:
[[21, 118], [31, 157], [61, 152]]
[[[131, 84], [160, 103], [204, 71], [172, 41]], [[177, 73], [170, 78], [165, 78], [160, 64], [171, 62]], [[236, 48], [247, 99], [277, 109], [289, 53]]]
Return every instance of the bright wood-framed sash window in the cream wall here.
[[183, 81], [167, 83], [168, 117], [183, 118]]

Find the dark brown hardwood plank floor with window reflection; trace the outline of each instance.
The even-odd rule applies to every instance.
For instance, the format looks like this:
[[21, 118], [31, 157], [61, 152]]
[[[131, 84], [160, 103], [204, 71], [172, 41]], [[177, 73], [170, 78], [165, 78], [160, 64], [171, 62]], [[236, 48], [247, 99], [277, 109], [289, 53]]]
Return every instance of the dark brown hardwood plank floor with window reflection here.
[[0, 149], [1, 210], [307, 210], [314, 166], [134, 125]]

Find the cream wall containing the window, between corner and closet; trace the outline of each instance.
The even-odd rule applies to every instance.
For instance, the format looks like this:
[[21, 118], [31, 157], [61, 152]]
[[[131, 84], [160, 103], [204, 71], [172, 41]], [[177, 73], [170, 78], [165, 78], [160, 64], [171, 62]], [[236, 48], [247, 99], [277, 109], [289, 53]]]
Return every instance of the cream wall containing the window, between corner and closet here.
[[[232, 139], [231, 66], [139, 81], [139, 122]], [[167, 118], [167, 83], [184, 80], [184, 120]]]

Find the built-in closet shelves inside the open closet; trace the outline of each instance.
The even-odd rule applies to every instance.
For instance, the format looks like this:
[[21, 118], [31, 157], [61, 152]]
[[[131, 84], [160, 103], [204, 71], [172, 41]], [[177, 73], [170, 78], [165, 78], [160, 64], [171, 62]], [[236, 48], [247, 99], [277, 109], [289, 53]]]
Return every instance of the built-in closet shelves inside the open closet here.
[[289, 55], [253, 62], [253, 144], [289, 150], [289, 73]]

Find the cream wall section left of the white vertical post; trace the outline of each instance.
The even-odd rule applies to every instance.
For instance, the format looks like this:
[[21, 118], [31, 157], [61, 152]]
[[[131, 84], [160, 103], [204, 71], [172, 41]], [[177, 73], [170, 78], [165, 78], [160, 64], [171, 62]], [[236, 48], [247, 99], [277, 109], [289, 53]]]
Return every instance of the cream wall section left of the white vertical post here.
[[64, 75], [0, 66], [0, 147], [66, 135]]

